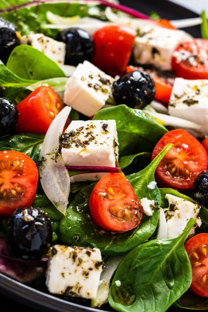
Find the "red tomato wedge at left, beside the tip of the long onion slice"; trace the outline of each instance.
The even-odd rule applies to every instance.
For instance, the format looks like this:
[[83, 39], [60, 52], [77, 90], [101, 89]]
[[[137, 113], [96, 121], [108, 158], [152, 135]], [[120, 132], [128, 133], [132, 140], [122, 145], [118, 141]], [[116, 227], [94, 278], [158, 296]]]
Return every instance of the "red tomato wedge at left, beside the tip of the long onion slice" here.
[[17, 104], [17, 132], [46, 134], [51, 122], [64, 108], [64, 103], [49, 85], [41, 85]]

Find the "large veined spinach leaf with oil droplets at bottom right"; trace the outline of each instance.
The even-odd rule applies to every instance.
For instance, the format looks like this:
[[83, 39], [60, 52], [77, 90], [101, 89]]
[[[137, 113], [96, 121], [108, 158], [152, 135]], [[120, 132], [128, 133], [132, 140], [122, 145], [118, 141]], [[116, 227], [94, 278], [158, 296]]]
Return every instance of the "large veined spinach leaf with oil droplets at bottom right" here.
[[[148, 241], [124, 258], [115, 273], [109, 304], [117, 311], [166, 311], [190, 286], [191, 264], [184, 240], [195, 223], [191, 219], [175, 239]], [[121, 286], [115, 281], [120, 280]]]

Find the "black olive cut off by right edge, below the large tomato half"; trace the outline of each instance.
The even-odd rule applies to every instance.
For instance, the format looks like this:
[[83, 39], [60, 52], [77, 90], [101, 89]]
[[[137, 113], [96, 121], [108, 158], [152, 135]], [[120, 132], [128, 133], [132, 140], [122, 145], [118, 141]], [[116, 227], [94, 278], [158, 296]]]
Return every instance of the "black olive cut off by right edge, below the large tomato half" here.
[[196, 202], [208, 208], [208, 170], [202, 171], [193, 183], [192, 195]]

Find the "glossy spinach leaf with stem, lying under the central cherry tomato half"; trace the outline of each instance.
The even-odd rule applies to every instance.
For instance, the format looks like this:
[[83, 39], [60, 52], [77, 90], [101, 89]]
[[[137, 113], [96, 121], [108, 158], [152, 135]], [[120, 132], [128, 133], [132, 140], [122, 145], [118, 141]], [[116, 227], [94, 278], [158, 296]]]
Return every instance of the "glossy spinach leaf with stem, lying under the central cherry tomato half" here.
[[[157, 186], [150, 190], [149, 182], [154, 180], [154, 172], [167, 153], [171, 145], [167, 146], [158, 156], [141, 172], [127, 176], [138, 198], [148, 197], [160, 203], [160, 193]], [[151, 217], [143, 216], [138, 227], [124, 233], [107, 233], [99, 231], [90, 220], [89, 196], [95, 183], [83, 188], [75, 197], [61, 219], [58, 237], [66, 245], [79, 245], [97, 247], [104, 255], [123, 254], [143, 241], [147, 240], [157, 227], [159, 210], [156, 209]]]

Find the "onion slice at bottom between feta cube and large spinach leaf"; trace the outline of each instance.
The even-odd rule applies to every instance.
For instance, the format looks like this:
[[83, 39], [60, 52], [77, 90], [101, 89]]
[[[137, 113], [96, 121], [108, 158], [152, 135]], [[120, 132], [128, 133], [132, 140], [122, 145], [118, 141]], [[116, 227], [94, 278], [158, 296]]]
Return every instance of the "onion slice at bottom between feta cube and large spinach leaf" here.
[[91, 301], [92, 308], [100, 307], [104, 303], [108, 302], [110, 280], [124, 257], [125, 255], [112, 256], [105, 263], [103, 271], [100, 275], [100, 283], [98, 286], [97, 296]]

